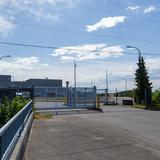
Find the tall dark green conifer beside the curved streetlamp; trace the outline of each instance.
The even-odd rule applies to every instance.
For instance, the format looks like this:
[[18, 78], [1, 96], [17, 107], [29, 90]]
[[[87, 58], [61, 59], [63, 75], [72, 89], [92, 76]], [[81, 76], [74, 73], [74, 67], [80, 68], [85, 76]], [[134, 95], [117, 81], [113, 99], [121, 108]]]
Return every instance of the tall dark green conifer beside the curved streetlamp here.
[[149, 81], [148, 71], [145, 66], [143, 57], [138, 59], [138, 69], [135, 73], [135, 82], [137, 88], [135, 89], [135, 100], [138, 104], [151, 103], [152, 83]]

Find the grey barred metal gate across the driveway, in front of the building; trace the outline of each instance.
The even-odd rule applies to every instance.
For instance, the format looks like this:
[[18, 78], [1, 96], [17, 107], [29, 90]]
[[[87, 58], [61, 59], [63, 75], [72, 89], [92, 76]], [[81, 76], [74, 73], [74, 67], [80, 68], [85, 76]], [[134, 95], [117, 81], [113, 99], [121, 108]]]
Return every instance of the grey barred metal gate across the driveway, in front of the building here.
[[[58, 102], [62, 108], [96, 108], [96, 88], [34, 87], [37, 102]], [[59, 107], [59, 108], [60, 108]]]

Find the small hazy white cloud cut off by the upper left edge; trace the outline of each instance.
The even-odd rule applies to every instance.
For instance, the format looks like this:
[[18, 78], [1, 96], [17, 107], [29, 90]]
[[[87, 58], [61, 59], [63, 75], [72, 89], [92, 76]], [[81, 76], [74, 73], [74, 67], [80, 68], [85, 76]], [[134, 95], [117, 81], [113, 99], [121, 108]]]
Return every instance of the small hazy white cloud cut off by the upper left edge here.
[[0, 36], [2, 37], [9, 36], [14, 28], [15, 27], [11, 21], [8, 21], [4, 17], [0, 16]]

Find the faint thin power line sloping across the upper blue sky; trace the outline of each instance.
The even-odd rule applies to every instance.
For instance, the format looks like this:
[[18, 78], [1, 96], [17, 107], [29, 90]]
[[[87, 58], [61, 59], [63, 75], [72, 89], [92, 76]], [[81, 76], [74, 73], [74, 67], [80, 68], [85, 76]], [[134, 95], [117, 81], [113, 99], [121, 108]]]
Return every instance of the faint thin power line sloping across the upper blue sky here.
[[[8, 20], [11, 20], [11, 19], [8, 19]], [[81, 31], [68, 30], [68, 29], [56, 28], [56, 27], [48, 27], [48, 26], [43, 26], [43, 25], [33, 25], [33, 24], [16, 22], [16, 21], [12, 21], [12, 23], [17, 24], [17, 25], [26, 26], [26, 27], [42, 28], [42, 29], [47, 29], [47, 30], [55, 30], [55, 31], [58, 31], [58, 32], [69, 32], [69, 33], [74, 33], [74, 34], [81, 34], [81, 35], [84, 35], [84, 36], [103, 37], [103, 38], [120, 39], [120, 40], [124, 39], [124, 40], [135, 41], [135, 42], [160, 44], [160, 42], [158, 42], [158, 41], [147, 41], [147, 40], [143, 40], [143, 39], [134, 39], [134, 38], [128, 38], [128, 37], [102, 35], [102, 34], [95, 34], [95, 33], [94, 34], [89, 34], [89, 33], [84, 33], [84, 32], [81, 32]]]

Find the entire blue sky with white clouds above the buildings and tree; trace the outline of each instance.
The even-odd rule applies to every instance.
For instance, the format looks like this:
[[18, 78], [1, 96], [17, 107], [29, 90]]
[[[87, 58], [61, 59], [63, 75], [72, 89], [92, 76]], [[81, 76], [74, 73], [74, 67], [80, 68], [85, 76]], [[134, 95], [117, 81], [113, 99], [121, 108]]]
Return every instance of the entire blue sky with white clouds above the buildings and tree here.
[[[73, 85], [105, 87], [110, 91], [134, 88], [138, 47], [145, 58], [154, 88], [160, 84], [158, 0], [0, 0], [0, 41], [53, 46], [43, 49], [0, 44], [0, 73], [14, 80], [58, 78]], [[133, 54], [124, 54], [129, 52]], [[148, 55], [147, 55], [147, 54]]]

